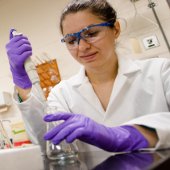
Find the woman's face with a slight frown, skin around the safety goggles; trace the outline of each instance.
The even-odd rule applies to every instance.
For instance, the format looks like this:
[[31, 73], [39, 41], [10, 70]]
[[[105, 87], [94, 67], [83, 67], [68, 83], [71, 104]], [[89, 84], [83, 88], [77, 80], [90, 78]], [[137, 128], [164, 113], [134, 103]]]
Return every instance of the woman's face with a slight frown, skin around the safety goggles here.
[[[105, 21], [89, 11], [68, 14], [62, 22], [63, 35], [76, 33], [87, 26], [103, 22]], [[102, 27], [101, 29], [104, 31], [103, 34], [101, 33], [104, 35], [101, 39], [95, 42], [80, 39], [76, 48], [68, 48], [71, 55], [86, 69], [107, 67], [110, 62], [115, 61], [115, 39], [119, 36], [119, 23], [116, 23], [114, 28]]]

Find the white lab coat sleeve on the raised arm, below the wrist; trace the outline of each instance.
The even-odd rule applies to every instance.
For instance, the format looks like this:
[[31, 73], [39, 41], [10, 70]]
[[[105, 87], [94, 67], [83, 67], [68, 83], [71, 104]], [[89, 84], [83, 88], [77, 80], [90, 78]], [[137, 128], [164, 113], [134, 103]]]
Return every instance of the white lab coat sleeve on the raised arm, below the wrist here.
[[21, 111], [27, 134], [33, 144], [39, 144], [42, 152], [45, 153], [45, 141], [43, 134], [46, 132], [46, 125], [43, 121], [44, 107], [38, 98], [31, 92], [30, 97], [19, 103], [17, 97], [14, 97], [16, 104]]

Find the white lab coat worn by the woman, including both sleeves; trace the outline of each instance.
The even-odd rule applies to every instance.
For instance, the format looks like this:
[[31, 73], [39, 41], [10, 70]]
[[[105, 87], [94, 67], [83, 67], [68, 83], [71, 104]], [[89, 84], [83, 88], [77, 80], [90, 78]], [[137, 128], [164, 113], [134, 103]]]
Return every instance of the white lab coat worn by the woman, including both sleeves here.
[[[84, 114], [110, 127], [139, 124], [155, 128], [159, 141], [154, 149], [170, 147], [169, 59], [119, 58], [118, 75], [106, 111], [85, 76], [84, 68], [77, 75], [55, 86], [48, 102], [51, 106], [57, 106], [58, 111]], [[36, 120], [36, 115], [42, 110], [35, 94], [18, 105], [33, 139], [33, 131], [43, 125]]]

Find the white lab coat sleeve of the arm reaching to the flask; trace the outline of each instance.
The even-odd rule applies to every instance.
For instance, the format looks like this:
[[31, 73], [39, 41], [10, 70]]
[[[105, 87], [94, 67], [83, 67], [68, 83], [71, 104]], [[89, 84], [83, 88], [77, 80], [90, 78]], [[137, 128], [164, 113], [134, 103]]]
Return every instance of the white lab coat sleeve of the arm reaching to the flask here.
[[154, 149], [170, 148], [170, 61], [162, 66], [160, 75], [169, 112], [148, 113], [125, 123], [154, 128], [158, 135], [158, 143]]

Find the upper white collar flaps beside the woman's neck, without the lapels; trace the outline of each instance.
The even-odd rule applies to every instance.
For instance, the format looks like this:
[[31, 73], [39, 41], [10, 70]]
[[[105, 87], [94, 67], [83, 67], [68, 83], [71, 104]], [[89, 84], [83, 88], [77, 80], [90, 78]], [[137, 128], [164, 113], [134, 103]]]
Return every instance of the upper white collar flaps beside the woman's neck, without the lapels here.
[[[118, 74], [123, 74], [126, 77], [131, 77], [135, 75], [135, 73], [141, 71], [141, 68], [137, 65], [137, 63], [131, 59], [130, 57], [118, 57]], [[80, 86], [88, 82], [88, 78], [85, 73], [85, 68], [82, 66], [78, 74], [71, 78], [71, 83], [73, 86]]]

